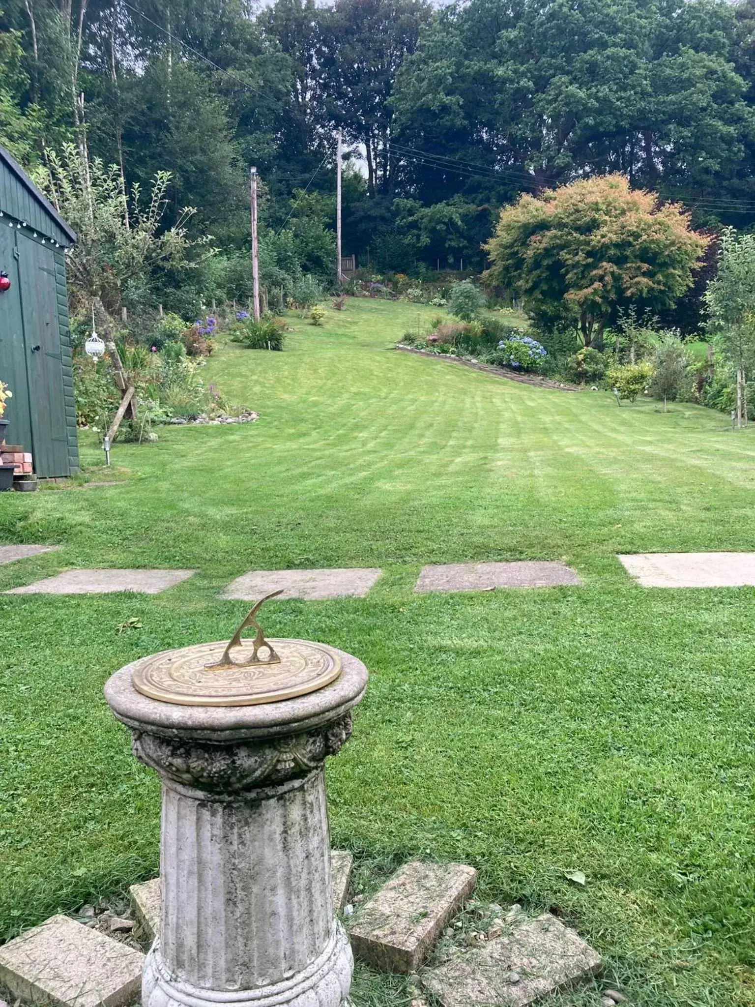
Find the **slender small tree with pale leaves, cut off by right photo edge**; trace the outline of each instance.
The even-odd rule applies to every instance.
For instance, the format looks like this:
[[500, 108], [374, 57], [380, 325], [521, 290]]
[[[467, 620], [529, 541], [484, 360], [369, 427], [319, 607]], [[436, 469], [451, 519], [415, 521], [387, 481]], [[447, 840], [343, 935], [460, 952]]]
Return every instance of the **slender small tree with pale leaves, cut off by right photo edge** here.
[[[705, 293], [717, 348], [737, 372], [737, 426], [747, 423], [746, 371], [755, 361], [755, 235], [727, 228], [719, 271]], [[744, 408], [743, 408], [744, 407]]]

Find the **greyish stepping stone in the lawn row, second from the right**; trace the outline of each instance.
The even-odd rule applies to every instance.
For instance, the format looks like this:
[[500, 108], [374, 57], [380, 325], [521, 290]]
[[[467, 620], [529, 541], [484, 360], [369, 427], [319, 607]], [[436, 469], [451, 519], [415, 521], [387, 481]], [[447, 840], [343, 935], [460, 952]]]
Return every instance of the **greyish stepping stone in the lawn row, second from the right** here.
[[423, 567], [417, 594], [428, 591], [490, 591], [494, 587], [557, 587], [581, 584], [571, 567], [548, 560], [513, 563], [445, 563]]

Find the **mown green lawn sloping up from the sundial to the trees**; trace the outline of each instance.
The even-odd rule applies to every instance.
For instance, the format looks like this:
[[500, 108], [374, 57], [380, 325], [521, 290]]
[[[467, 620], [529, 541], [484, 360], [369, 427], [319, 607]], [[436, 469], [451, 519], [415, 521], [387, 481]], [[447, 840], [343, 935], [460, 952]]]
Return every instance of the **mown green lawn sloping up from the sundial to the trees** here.
[[[156, 870], [158, 786], [102, 699], [113, 671], [229, 637], [245, 604], [217, 592], [247, 570], [374, 565], [365, 599], [265, 619], [371, 672], [328, 767], [334, 843], [365, 870], [474, 864], [482, 897], [577, 925], [634, 1004], [753, 1004], [755, 591], [641, 589], [615, 554], [755, 549], [754, 435], [391, 348], [435, 314], [350, 300], [323, 328], [296, 319], [283, 353], [223, 345], [207, 378], [258, 423], [117, 444], [123, 485], [0, 497], [2, 541], [61, 544], [0, 568], [0, 589], [87, 564], [198, 571], [156, 598], [0, 596], [0, 933]], [[522, 558], [584, 586], [412, 593], [426, 562]], [[356, 989], [410, 996], [365, 970]]]

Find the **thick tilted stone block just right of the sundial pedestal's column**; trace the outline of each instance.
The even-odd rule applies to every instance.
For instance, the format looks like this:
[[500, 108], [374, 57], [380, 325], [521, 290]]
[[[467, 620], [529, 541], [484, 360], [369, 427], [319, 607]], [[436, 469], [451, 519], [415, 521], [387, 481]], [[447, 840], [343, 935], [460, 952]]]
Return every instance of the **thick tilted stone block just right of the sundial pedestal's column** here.
[[354, 916], [354, 955], [386, 972], [414, 972], [476, 878], [466, 864], [405, 864]]

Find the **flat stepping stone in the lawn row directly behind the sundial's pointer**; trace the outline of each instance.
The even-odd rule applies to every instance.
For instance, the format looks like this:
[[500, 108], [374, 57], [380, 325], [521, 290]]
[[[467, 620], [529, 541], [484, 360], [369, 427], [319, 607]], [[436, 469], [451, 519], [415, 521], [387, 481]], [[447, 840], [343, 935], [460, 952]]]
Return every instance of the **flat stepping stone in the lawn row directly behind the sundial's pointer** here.
[[238, 577], [222, 592], [223, 598], [255, 601], [283, 588], [280, 598], [363, 598], [382, 571], [374, 567], [343, 570], [253, 570]]

